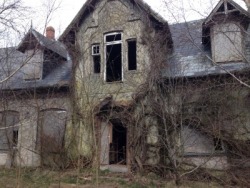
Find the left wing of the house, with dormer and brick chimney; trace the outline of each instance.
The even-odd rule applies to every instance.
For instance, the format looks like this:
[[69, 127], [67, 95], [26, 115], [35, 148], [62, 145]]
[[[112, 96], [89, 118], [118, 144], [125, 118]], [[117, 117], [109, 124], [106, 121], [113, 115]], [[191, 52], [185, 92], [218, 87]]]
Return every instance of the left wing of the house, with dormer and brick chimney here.
[[62, 151], [69, 119], [68, 53], [52, 27], [46, 37], [31, 28], [17, 48], [0, 53], [0, 165], [49, 163], [48, 154], [53, 158]]

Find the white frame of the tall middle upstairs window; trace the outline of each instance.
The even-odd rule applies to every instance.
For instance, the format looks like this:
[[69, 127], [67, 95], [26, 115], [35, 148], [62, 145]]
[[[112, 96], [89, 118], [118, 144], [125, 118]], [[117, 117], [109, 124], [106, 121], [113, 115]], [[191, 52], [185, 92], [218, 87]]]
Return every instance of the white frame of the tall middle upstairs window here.
[[[111, 36], [111, 35], [116, 35], [116, 34], [121, 34], [121, 40], [117, 40], [117, 41], [112, 41], [112, 42], [107, 42], [106, 41], [106, 37], [107, 36]], [[114, 45], [114, 44], [121, 44], [121, 66], [122, 66], [122, 79], [121, 79], [121, 82], [123, 82], [124, 80], [124, 77], [123, 77], [123, 45], [122, 45], [122, 40], [123, 40], [123, 33], [122, 32], [112, 32], [112, 33], [107, 33], [107, 34], [104, 34], [104, 80], [105, 82], [107, 82], [106, 80], [106, 64], [107, 64], [107, 46], [109, 45]], [[112, 82], [109, 82], [109, 83], [112, 83]]]

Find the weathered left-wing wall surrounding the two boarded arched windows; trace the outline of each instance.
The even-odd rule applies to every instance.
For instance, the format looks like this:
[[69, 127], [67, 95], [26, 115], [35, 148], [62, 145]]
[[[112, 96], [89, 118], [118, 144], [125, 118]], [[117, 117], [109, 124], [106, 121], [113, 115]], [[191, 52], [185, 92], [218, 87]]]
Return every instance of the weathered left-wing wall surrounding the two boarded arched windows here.
[[67, 119], [70, 120], [71, 107], [69, 98], [65, 95], [58, 98], [48, 97], [46, 95], [38, 99], [17, 98], [12, 98], [11, 100], [2, 98], [0, 104], [0, 112], [12, 110], [19, 112], [20, 115], [20, 122], [18, 123], [18, 145], [15, 149], [15, 159], [11, 162], [9, 151], [2, 151], [0, 153], [0, 165], [8, 167], [12, 163], [26, 167], [39, 166], [41, 158], [40, 152], [36, 147], [38, 142], [38, 113], [41, 110], [51, 108], [63, 109], [67, 111]]

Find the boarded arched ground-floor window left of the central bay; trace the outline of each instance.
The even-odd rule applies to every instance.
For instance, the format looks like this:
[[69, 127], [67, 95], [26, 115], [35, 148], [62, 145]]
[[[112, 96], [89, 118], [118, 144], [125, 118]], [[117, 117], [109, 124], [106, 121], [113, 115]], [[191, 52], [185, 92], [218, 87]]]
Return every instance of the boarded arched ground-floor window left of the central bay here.
[[66, 111], [46, 109], [39, 113], [38, 146], [42, 154], [59, 153], [63, 149]]

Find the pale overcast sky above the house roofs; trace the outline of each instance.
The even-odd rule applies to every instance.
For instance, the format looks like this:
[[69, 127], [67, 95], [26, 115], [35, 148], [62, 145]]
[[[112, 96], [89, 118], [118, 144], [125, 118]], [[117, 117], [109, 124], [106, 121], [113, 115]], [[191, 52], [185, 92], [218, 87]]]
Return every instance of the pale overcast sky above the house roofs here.
[[[2, 0], [0, 0], [2, 1]], [[77, 12], [83, 6], [86, 0], [22, 0], [25, 6], [29, 7], [29, 15], [26, 22], [23, 23], [24, 28], [29, 29], [31, 22], [33, 27], [43, 33], [45, 26], [45, 18], [48, 13], [48, 7], [52, 7], [52, 2], [56, 1], [51, 19], [48, 25], [56, 30], [56, 38], [65, 30], [75, 17]], [[206, 17], [219, 2], [219, 0], [144, 0], [157, 13], [163, 16], [169, 23], [196, 20]], [[243, 0], [235, 0], [243, 8], [246, 9]], [[19, 39], [13, 40], [12, 45], [17, 45], [20, 38], [26, 31], [21, 31]], [[1, 41], [0, 41], [1, 45]]]

